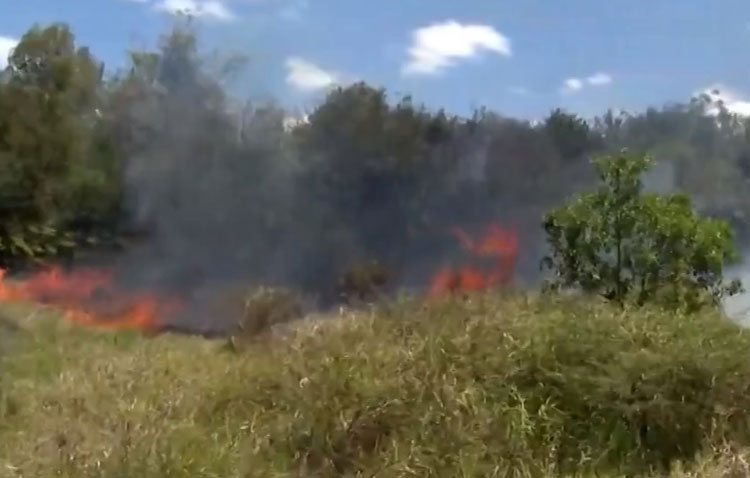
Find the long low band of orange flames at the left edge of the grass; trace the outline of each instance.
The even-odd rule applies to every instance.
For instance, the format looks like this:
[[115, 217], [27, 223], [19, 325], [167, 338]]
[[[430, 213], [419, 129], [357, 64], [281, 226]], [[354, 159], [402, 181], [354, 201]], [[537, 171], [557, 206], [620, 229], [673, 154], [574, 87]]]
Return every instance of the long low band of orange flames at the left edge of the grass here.
[[9, 281], [0, 269], [0, 302], [33, 301], [63, 311], [74, 324], [156, 332], [160, 320], [179, 303], [149, 294], [127, 294], [112, 285], [108, 271], [82, 268], [69, 273], [52, 267], [27, 280]]

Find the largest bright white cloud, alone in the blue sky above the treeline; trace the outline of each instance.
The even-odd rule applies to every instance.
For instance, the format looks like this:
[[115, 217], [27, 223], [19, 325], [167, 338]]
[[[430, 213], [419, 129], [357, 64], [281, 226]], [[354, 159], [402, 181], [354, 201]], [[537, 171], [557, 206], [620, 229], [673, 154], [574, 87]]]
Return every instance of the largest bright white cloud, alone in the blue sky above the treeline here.
[[412, 32], [404, 64], [405, 75], [432, 75], [482, 51], [511, 56], [510, 40], [488, 25], [461, 24], [455, 20], [433, 23]]

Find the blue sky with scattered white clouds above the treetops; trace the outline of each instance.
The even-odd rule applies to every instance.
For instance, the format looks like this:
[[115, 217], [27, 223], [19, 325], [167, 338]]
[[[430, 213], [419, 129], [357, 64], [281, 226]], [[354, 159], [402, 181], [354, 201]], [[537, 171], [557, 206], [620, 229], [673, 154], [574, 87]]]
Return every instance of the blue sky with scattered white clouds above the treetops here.
[[750, 109], [747, 0], [5, 0], [0, 53], [32, 24], [62, 21], [116, 68], [177, 10], [197, 17], [205, 49], [249, 57], [237, 94], [290, 107], [365, 80], [460, 114], [591, 116], [715, 85]]

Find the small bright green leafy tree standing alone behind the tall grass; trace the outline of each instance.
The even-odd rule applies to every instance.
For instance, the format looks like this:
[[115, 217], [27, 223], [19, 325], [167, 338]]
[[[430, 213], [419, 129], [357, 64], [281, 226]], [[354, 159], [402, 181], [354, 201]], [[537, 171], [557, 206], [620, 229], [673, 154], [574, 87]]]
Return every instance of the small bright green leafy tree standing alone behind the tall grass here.
[[742, 290], [722, 277], [723, 266], [739, 258], [729, 225], [698, 216], [684, 194], [644, 193], [641, 174], [651, 164], [625, 151], [600, 157], [601, 186], [545, 215], [548, 288], [687, 311]]

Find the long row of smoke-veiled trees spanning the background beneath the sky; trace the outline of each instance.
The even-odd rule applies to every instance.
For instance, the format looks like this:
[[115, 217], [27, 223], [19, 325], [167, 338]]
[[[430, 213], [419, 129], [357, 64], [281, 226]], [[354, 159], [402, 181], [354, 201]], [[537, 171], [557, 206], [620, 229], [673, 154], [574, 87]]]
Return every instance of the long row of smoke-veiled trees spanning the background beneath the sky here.
[[67, 26], [29, 30], [0, 81], [0, 267], [130, 244], [128, 264], [174, 280], [330, 294], [370, 260], [419, 283], [455, 248], [446, 228], [500, 220], [518, 227], [531, 271], [540, 214], [590, 184], [593, 155], [623, 147], [671, 162], [704, 210], [750, 217], [750, 123], [707, 97], [532, 123], [358, 83], [290, 125], [276, 105], [232, 98], [234, 62], [208, 60], [178, 26], [105, 75]]

